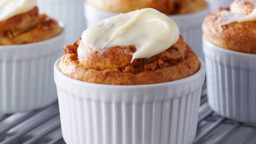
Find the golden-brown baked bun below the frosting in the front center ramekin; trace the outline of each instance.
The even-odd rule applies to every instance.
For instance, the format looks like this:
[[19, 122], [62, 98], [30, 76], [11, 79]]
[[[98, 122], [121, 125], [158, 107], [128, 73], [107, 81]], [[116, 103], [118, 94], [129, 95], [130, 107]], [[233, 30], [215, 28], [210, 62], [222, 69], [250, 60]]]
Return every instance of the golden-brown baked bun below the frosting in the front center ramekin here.
[[[69, 45], [68, 47], [72, 49], [71, 51], [76, 50], [76, 45]], [[68, 53], [60, 60], [60, 71], [74, 79], [92, 83], [141, 85], [179, 80], [193, 75], [199, 69], [196, 54], [181, 36], [176, 45], [168, 50], [149, 59], [136, 59], [132, 64], [130, 63], [132, 55], [123, 50], [133, 48], [133, 46], [113, 47], [112, 50], [103, 54], [104, 56], [97, 52], [90, 52], [91, 48], [86, 48], [89, 50], [87, 53], [90, 57], [89, 60], [92, 61], [81, 64], [77, 53], [71, 53], [67, 47], [64, 47], [64, 51]], [[128, 58], [124, 57], [126, 55], [129, 55]], [[120, 60], [120, 65], [115, 62], [116, 59]]]

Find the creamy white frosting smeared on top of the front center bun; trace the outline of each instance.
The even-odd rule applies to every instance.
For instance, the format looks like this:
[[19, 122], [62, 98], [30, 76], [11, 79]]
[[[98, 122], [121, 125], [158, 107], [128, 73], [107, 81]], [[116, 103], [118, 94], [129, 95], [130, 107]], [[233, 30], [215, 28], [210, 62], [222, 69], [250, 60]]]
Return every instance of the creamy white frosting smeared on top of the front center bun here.
[[82, 34], [84, 44], [98, 52], [113, 46], [134, 45], [132, 61], [164, 52], [180, 37], [176, 23], [153, 8], [120, 14], [103, 20]]

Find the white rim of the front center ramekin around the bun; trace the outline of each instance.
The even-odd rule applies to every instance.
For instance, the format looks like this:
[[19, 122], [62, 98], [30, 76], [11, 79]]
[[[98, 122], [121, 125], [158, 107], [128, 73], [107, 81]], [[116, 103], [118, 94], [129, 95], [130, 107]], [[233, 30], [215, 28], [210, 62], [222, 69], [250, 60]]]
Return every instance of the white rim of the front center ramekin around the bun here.
[[180, 84], [180, 83], [186, 83], [187, 81], [190, 81], [196, 77], [199, 77], [200, 75], [204, 74], [205, 71], [206, 71], [206, 66], [204, 64], [204, 61], [201, 60], [200, 58], [198, 58], [199, 60], [199, 64], [200, 64], [200, 68], [199, 70], [193, 74], [192, 76], [188, 76], [188, 77], [185, 77], [183, 79], [180, 79], [180, 80], [175, 80], [175, 81], [171, 81], [171, 82], [166, 82], [166, 83], [159, 83], [159, 84], [144, 84], [144, 85], [111, 85], [111, 84], [96, 84], [96, 83], [90, 83], [90, 82], [85, 82], [85, 81], [82, 81], [82, 80], [76, 80], [74, 78], [71, 78], [69, 76], [66, 76], [64, 75], [64, 73], [62, 73], [60, 71], [60, 69], [58, 68], [58, 64], [60, 62], [60, 59], [61, 57], [56, 60], [55, 64], [54, 64], [54, 73], [56, 74], [59, 74], [61, 76], [63, 76], [64, 78], [67, 78], [68, 80], [71, 80], [72, 82], [75, 82], [75, 83], [79, 83], [79, 84], [82, 84], [82, 85], [87, 85], [87, 86], [94, 86], [94, 87], [104, 87], [104, 88], [117, 88], [117, 89], [121, 89], [121, 88], [151, 88], [151, 87], [162, 87], [162, 86], [165, 86], [165, 85], [177, 85], [177, 84]]

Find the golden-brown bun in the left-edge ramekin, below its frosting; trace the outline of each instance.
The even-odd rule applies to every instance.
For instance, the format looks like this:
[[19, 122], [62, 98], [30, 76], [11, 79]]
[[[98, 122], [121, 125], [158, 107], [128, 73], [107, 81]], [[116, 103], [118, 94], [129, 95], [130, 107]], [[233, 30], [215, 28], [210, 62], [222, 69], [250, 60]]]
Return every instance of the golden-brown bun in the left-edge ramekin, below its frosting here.
[[59, 35], [62, 28], [56, 20], [42, 14], [38, 8], [0, 22], [0, 45], [29, 44]]

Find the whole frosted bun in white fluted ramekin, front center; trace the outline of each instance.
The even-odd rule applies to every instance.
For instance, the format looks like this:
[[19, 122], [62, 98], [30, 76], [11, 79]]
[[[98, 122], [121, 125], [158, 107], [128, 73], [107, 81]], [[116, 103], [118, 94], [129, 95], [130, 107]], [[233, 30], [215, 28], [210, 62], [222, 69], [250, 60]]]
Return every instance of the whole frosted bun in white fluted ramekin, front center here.
[[145, 8], [103, 20], [54, 66], [67, 144], [191, 144], [205, 65], [176, 23]]

